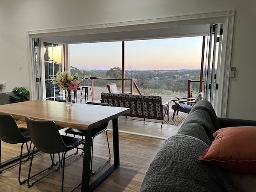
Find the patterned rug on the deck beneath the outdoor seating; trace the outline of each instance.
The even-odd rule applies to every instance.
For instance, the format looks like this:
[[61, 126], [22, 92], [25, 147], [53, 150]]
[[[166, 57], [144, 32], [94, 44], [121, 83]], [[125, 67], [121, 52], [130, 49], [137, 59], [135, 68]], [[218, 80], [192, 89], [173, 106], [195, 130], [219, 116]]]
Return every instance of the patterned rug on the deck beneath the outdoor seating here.
[[[173, 118], [173, 112], [169, 112], [169, 121], [168, 118], [165, 117], [164, 119], [164, 124], [170, 124], [170, 125], [179, 125], [182, 123], [182, 121], [184, 121], [184, 119], [188, 116], [187, 113], [184, 112], [179, 112], [178, 115], [175, 115], [174, 119]], [[119, 118], [125, 118], [125, 116], [119, 116]], [[128, 119], [134, 119], [134, 120], [138, 120], [138, 121], [144, 121], [144, 118], [138, 118], [138, 117], [127, 117]], [[148, 119], [146, 118], [145, 121], [149, 121], [149, 122], [155, 122], [155, 123], [162, 123], [161, 120], [157, 120], [157, 119]]]

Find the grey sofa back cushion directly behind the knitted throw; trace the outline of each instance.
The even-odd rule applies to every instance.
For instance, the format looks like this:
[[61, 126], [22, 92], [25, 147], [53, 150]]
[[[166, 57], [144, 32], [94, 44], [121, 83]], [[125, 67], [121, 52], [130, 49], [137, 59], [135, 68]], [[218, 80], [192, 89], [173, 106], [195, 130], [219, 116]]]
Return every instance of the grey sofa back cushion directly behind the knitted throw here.
[[205, 132], [205, 129], [202, 127], [202, 125], [198, 123], [189, 123], [189, 124], [183, 125], [182, 129], [179, 129], [177, 134], [196, 137], [202, 140], [203, 142], [205, 142], [207, 145], [211, 145], [211, 141], [208, 138]]

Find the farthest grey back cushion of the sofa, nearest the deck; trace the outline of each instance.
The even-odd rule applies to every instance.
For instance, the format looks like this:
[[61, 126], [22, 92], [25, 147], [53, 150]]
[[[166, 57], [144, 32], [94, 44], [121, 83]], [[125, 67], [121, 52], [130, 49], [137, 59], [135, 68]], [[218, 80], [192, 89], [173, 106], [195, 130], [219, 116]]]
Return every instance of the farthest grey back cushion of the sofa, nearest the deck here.
[[203, 110], [207, 111], [211, 117], [211, 121], [212, 121], [212, 124], [215, 127], [215, 129], [216, 130], [220, 129], [220, 124], [217, 119], [217, 115], [216, 115], [211, 103], [208, 102], [208, 100], [199, 100], [198, 102], [196, 102], [196, 104], [192, 107], [191, 112], [196, 111], [198, 109], [203, 109]]

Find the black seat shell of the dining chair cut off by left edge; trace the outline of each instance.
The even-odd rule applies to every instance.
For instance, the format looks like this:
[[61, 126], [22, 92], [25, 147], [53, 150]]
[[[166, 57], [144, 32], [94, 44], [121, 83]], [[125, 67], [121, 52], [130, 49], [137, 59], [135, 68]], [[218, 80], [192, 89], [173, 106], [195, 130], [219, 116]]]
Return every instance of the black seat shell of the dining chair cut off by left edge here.
[[12, 115], [0, 114], [0, 140], [6, 143], [16, 144], [29, 139], [22, 135]]

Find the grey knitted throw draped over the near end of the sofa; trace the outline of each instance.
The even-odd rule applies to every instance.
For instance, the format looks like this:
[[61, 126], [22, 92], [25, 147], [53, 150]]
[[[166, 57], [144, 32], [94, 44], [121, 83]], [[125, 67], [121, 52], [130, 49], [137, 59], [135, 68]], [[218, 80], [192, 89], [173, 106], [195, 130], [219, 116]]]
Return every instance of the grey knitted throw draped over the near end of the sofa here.
[[225, 170], [198, 160], [208, 147], [191, 136], [168, 138], [152, 160], [140, 192], [235, 192]]

